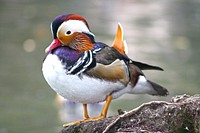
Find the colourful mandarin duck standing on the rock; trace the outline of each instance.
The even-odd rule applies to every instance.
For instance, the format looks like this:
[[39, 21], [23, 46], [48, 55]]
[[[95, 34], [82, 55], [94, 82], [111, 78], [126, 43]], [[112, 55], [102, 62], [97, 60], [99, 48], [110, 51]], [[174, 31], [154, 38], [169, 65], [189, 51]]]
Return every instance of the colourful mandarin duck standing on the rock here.
[[[96, 42], [85, 18], [77, 14], [57, 16], [52, 24], [53, 42], [42, 65], [50, 87], [65, 99], [83, 104], [83, 120], [95, 121], [106, 117], [112, 99], [125, 93], [168, 95], [167, 89], [146, 79], [141, 70], [163, 70], [158, 66], [131, 60], [118, 24], [112, 46]], [[90, 118], [87, 104], [105, 102], [100, 116]]]

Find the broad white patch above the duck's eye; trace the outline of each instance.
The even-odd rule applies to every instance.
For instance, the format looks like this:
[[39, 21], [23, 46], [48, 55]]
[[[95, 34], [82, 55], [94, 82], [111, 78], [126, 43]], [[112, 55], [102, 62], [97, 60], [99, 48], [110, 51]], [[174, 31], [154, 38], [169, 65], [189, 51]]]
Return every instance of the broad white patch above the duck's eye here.
[[[65, 30], [65, 34], [68, 31], [71, 31], [71, 34], [74, 32], [89, 32], [89, 29], [86, 26], [86, 24], [80, 20], [68, 20], [68, 21], [63, 22], [58, 28], [57, 35], [61, 29]], [[69, 35], [69, 34], [66, 34], [66, 35]]]

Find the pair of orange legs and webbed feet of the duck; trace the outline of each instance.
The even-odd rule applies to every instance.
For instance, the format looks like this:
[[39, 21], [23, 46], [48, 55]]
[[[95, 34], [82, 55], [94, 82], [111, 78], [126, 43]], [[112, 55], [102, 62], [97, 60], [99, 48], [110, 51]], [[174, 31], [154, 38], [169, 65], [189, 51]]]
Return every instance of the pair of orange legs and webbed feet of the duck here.
[[102, 118], [105, 118], [106, 115], [107, 115], [107, 112], [108, 112], [108, 108], [110, 106], [110, 103], [112, 101], [112, 96], [107, 96], [106, 97], [106, 103], [103, 107], [103, 110], [101, 111], [101, 115], [100, 116], [97, 116], [97, 117], [94, 117], [94, 118], [90, 118], [89, 115], [88, 115], [88, 111], [87, 111], [87, 104], [83, 104], [83, 120], [79, 120], [79, 121], [75, 121], [75, 122], [70, 122], [70, 123], [67, 123], [67, 124], [64, 124], [63, 127], [67, 127], [67, 126], [70, 126], [70, 125], [75, 125], [75, 124], [80, 124], [82, 122], [88, 122], [88, 121], [97, 121], [97, 120], [100, 120]]

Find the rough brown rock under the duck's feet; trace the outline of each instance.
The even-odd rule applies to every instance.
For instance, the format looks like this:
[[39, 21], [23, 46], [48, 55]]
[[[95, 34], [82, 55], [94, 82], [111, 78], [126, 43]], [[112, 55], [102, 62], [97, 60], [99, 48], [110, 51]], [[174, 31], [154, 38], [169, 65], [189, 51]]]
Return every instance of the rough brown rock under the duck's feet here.
[[60, 133], [199, 133], [200, 95], [180, 95], [170, 102], [152, 101], [99, 121], [65, 127]]

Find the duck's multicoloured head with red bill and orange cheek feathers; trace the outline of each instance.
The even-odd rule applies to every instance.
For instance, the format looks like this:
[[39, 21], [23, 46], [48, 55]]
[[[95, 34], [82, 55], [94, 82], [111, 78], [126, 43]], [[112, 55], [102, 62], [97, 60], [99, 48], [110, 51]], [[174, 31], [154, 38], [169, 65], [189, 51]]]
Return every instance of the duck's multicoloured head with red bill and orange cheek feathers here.
[[94, 34], [90, 32], [87, 21], [80, 15], [57, 16], [51, 24], [51, 32], [54, 40], [45, 49], [45, 52], [50, 52], [60, 46], [66, 46], [80, 52], [93, 48]]

